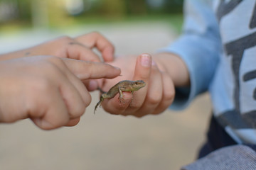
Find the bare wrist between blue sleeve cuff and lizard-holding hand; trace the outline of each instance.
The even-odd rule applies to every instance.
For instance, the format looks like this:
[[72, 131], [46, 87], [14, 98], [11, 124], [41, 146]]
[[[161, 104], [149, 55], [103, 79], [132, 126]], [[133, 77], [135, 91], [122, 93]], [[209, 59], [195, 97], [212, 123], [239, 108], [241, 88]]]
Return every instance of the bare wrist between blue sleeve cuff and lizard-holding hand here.
[[153, 60], [162, 72], [169, 74], [174, 81], [174, 86], [190, 86], [188, 68], [181, 57], [173, 53], [163, 52], [154, 55]]

